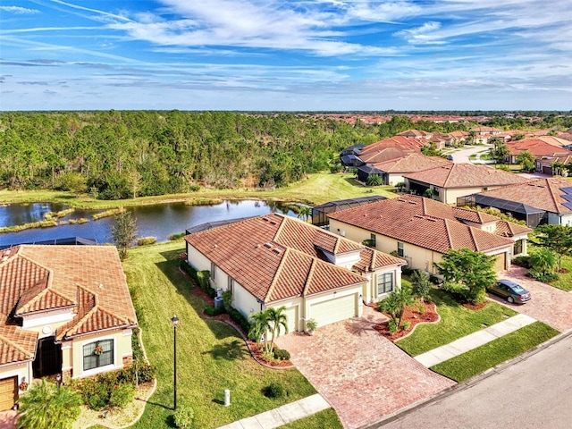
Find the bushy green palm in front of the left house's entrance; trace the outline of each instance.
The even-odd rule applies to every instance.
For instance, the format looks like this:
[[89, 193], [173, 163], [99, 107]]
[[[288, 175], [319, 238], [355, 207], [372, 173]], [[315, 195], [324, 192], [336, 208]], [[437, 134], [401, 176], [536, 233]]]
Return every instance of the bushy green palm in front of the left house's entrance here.
[[42, 379], [21, 396], [18, 429], [70, 429], [81, 403], [79, 393]]

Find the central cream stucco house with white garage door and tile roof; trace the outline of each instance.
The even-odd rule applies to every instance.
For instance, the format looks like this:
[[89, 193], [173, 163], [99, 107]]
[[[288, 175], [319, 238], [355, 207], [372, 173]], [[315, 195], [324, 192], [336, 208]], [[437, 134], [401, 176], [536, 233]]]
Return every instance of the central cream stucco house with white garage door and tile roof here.
[[286, 307], [289, 332], [362, 315], [363, 302], [401, 284], [405, 261], [282, 214], [257, 216], [185, 236], [187, 262], [210, 271], [248, 317]]

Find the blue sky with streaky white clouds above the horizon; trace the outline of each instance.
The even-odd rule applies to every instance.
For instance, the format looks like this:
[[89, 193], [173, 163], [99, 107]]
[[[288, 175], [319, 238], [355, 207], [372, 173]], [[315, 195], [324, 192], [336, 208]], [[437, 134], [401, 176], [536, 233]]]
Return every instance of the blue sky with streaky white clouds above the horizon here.
[[2, 0], [0, 109], [572, 110], [570, 0]]

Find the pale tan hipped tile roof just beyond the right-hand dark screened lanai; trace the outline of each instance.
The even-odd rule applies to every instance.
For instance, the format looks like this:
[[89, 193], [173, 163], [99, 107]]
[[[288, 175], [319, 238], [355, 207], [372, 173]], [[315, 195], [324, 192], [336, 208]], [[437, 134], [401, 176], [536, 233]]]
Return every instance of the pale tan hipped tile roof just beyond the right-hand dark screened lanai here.
[[448, 189], [506, 186], [528, 181], [517, 174], [474, 164], [448, 164], [423, 172], [404, 174], [403, 177]]

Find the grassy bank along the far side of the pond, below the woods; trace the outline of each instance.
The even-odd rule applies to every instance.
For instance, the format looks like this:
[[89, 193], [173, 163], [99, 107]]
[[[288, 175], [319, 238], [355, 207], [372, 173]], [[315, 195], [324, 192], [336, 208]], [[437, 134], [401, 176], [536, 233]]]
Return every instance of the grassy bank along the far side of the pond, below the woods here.
[[81, 209], [107, 210], [118, 207], [143, 206], [172, 201], [186, 201], [205, 198], [205, 201], [215, 199], [262, 199], [278, 201], [296, 201], [309, 205], [318, 205], [334, 199], [364, 197], [376, 194], [384, 197], [394, 197], [393, 187], [380, 186], [367, 188], [359, 184], [353, 174], [349, 173], [319, 173], [311, 174], [307, 179], [288, 187], [274, 190], [257, 189], [200, 189], [186, 194], [162, 195], [122, 199], [115, 201], [98, 200], [87, 195], [77, 196], [71, 192], [48, 190], [0, 190], [0, 204], [13, 203], [60, 203]]

